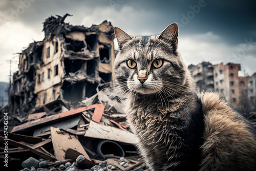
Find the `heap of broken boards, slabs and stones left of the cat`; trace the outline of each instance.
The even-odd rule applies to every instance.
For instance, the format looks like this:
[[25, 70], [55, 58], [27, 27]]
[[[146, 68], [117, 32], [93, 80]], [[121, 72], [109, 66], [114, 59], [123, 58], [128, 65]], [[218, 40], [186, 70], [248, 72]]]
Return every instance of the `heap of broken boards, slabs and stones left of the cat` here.
[[[77, 109], [28, 115], [8, 134], [9, 166], [24, 171], [144, 170], [123, 104], [112, 94], [103, 89], [81, 101]], [[0, 141], [5, 139], [1, 131]], [[0, 153], [1, 159], [4, 154]]]

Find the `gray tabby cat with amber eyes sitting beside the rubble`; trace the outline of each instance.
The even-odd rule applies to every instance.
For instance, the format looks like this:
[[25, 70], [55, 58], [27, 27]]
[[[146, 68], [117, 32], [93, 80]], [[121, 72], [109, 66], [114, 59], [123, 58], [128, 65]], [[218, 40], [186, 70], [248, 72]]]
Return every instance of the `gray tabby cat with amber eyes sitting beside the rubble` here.
[[[159, 36], [131, 37], [117, 27], [114, 31], [119, 45], [115, 81], [127, 94], [127, 120], [150, 170], [254, 169], [256, 141], [250, 126], [215, 94], [201, 99], [195, 94], [177, 51], [176, 24]], [[218, 120], [225, 118], [223, 111], [229, 113], [228, 121]], [[243, 126], [240, 137], [232, 132], [238, 124]]]

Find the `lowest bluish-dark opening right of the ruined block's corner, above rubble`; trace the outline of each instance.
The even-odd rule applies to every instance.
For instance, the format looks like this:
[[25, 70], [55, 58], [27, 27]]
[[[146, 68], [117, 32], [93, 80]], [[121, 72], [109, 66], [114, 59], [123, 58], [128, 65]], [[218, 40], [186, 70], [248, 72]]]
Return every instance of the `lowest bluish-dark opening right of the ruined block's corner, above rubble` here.
[[63, 82], [63, 86], [61, 88], [64, 91], [63, 98], [68, 101], [76, 101], [82, 99], [84, 97], [84, 86], [85, 82], [83, 81], [76, 82], [74, 84], [71, 84], [67, 81]]

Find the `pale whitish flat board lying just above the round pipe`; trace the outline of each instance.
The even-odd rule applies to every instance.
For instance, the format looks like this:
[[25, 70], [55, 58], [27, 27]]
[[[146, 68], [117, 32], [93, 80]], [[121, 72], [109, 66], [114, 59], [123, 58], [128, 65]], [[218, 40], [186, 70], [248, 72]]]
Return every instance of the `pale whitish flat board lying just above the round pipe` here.
[[106, 126], [94, 121], [90, 122], [88, 130], [84, 136], [119, 141], [129, 144], [135, 144], [137, 142], [136, 136], [129, 131], [120, 130], [116, 127]]

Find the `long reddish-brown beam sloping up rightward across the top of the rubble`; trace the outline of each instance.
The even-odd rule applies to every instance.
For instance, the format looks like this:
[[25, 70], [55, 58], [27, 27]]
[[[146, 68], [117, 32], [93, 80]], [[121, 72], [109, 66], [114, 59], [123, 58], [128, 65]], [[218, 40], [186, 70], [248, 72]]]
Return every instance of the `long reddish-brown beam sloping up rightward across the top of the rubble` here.
[[[66, 118], [66, 117], [70, 117], [70, 116], [79, 114], [83, 111], [87, 111], [87, 110], [94, 109], [94, 108], [95, 108], [94, 112], [95, 111], [99, 112], [99, 110], [102, 110], [103, 106], [104, 106], [104, 104], [93, 104], [93, 105], [90, 105], [90, 106], [86, 106], [86, 107], [82, 107], [82, 108], [78, 108], [78, 109], [73, 109], [73, 110], [70, 110], [70, 111], [67, 111], [67, 112], [47, 116], [47, 117], [40, 118], [40, 119], [37, 119], [37, 120], [32, 120], [32, 121], [26, 122], [22, 125], [14, 126], [11, 133], [24, 131], [28, 128], [29, 129], [35, 129], [36, 127], [41, 127], [42, 125], [45, 125], [46, 123], [49, 123], [49, 122], [51, 123], [53, 121], [63, 119], [63, 118]], [[97, 109], [97, 108], [100, 108], [100, 109]]]

